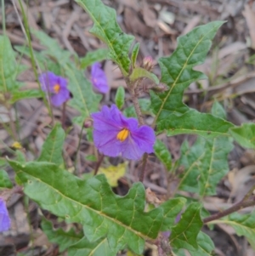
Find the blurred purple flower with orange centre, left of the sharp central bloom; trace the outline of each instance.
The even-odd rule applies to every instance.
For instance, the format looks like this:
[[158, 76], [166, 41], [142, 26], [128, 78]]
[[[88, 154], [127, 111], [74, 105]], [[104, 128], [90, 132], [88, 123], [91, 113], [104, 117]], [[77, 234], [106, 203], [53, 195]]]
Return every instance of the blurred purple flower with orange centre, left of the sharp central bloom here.
[[42, 90], [52, 94], [52, 105], [59, 106], [70, 99], [67, 80], [64, 77], [56, 76], [53, 72], [47, 71], [39, 77], [39, 81]]

